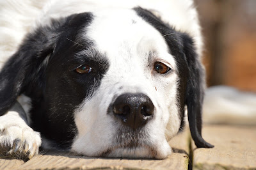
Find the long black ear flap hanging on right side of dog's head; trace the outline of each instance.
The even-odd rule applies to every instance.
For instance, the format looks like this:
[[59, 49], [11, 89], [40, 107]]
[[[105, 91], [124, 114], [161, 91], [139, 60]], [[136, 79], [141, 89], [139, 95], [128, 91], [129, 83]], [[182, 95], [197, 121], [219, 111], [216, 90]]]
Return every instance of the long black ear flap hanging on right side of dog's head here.
[[198, 148], [213, 148], [212, 144], [205, 142], [202, 138], [202, 104], [205, 90], [204, 67], [196, 54], [192, 38], [184, 34], [182, 39], [189, 70], [185, 104], [188, 107], [191, 136]]

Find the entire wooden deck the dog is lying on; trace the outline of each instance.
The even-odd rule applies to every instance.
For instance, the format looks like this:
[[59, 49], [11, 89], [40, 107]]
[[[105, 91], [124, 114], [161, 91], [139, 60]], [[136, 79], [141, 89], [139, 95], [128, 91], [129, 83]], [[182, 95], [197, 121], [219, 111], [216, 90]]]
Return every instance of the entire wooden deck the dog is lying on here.
[[177, 135], [173, 154], [164, 160], [91, 158], [42, 151], [28, 162], [0, 159], [0, 169], [256, 169], [256, 126], [205, 125], [212, 149], [195, 148], [189, 132]]

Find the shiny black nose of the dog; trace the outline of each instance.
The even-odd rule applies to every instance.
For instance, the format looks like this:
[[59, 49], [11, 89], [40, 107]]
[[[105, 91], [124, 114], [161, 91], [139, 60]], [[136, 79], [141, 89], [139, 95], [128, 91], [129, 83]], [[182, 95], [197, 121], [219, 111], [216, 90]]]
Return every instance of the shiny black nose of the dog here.
[[146, 95], [125, 93], [113, 103], [113, 114], [124, 125], [135, 130], [153, 118], [154, 105]]

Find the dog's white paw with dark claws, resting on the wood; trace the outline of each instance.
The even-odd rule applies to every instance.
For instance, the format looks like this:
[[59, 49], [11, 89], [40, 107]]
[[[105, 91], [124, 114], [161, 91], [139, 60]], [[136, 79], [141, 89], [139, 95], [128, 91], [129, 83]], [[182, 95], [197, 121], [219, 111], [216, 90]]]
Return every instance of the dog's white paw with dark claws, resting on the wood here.
[[0, 124], [0, 157], [28, 160], [38, 153], [42, 143], [40, 133], [18, 124]]

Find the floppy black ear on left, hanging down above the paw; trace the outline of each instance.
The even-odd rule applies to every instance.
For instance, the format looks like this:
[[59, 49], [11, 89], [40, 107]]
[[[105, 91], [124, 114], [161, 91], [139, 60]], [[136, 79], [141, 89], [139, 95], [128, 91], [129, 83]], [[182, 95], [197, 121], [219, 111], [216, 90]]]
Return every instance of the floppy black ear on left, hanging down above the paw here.
[[51, 35], [47, 33], [49, 31], [38, 29], [27, 35], [17, 52], [3, 66], [0, 72], [0, 116], [15, 104], [28, 84], [40, 79], [36, 76], [42, 72], [42, 63], [54, 50]]

